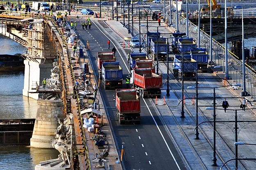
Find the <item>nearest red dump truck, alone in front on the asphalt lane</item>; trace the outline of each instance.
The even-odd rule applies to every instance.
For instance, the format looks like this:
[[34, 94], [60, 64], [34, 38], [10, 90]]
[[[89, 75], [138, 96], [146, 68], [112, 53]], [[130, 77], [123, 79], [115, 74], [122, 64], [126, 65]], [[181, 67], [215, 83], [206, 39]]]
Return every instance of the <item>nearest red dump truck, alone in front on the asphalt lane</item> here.
[[116, 89], [116, 115], [120, 125], [140, 124], [140, 97], [136, 89]]

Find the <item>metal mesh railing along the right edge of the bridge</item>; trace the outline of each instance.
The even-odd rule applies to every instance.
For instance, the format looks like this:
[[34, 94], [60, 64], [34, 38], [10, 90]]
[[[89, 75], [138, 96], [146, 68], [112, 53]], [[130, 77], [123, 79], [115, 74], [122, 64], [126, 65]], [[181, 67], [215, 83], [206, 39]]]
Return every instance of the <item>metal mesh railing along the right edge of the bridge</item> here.
[[[169, 21], [170, 22], [170, 21]], [[176, 25], [176, 17], [172, 18], [172, 24]], [[186, 18], [179, 17], [179, 32], [186, 32]], [[189, 37], [193, 38], [195, 42], [198, 42], [198, 26], [194, 25], [192, 22], [189, 22], [188, 27]], [[200, 47], [210, 49], [210, 36], [206, 34], [206, 32], [200, 32]], [[212, 51], [213, 51], [213, 61], [215, 64], [221, 66], [221, 70], [225, 71], [225, 47], [212, 39]], [[233, 79], [234, 82], [242, 84], [242, 60], [239, 60], [238, 57], [231, 53], [228, 50], [228, 71], [229, 77]], [[246, 68], [246, 91], [252, 96], [252, 98], [256, 98], [256, 71], [251, 68], [249, 65], [245, 64]]]

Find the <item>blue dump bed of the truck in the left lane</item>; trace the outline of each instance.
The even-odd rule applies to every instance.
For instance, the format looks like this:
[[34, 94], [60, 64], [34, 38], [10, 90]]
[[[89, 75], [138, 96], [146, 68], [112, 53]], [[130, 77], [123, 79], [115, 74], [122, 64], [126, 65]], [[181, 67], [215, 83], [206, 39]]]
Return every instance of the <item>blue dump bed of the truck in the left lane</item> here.
[[122, 79], [122, 68], [119, 62], [102, 63], [102, 77], [104, 80], [116, 81]]

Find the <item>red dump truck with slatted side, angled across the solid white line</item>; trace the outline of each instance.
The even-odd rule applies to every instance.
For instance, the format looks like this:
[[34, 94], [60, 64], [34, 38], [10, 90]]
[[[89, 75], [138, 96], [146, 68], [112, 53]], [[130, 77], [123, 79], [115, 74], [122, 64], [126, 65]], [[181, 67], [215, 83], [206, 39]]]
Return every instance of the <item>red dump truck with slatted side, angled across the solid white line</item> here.
[[154, 74], [151, 68], [133, 68], [130, 82], [131, 88], [136, 88], [142, 98], [161, 96], [162, 74]]

